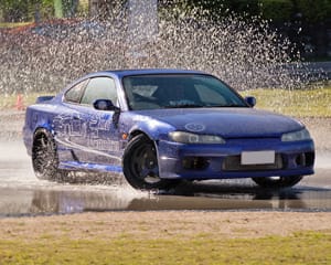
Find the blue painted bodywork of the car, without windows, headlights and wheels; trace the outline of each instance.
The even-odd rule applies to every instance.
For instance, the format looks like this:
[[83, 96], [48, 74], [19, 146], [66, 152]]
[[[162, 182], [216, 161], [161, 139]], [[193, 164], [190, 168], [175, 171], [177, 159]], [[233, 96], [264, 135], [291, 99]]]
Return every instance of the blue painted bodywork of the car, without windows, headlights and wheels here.
[[[39, 104], [28, 107], [23, 127], [28, 152], [31, 155], [34, 131], [42, 127], [54, 135], [62, 169], [122, 172], [122, 155], [130, 139], [122, 136], [142, 132], [156, 142], [160, 178], [193, 180], [313, 173], [312, 139], [281, 141], [282, 134], [305, 129], [302, 124], [282, 115], [254, 109], [228, 87], [227, 94], [235, 97], [237, 107], [190, 107], [190, 100], [182, 100], [188, 106], [170, 105], [158, 108], [153, 96], [146, 96], [146, 93], [145, 96], [139, 95], [139, 98], [148, 99], [142, 106], [149, 109], [131, 110], [128, 98], [137, 95], [129, 95], [124, 87], [124, 78], [145, 75], [149, 76], [150, 81], [153, 81], [153, 75], [163, 76], [166, 85], [168, 76], [177, 75], [197, 76], [200, 80], [205, 77], [214, 83], [218, 82], [212, 75], [202, 72], [180, 70], [106, 71], [89, 74], [68, 85], [51, 100], [39, 100]], [[118, 114], [115, 112], [97, 110], [92, 106], [63, 100], [68, 89], [98, 76], [107, 76], [115, 81], [117, 103], [114, 104], [121, 109], [119, 116], [116, 116]], [[156, 85], [150, 85], [151, 89], [153, 86]], [[140, 99], [137, 99], [138, 105], [141, 104]], [[174, 130], [218, 136], [225, 144], [174, 142], [168, 136]], [[279, 153], [282, 167], [277, 170], [223, 170], [226, 157], [259, 150]], [[300, 162], [300, 156], [310, 156], [312, 159], [306, 165]], [[207, 166], [199, 170], [186, 169], [183, 167], [183, 160], [188, 157], [203, 158]]]

